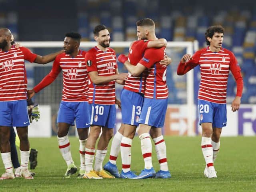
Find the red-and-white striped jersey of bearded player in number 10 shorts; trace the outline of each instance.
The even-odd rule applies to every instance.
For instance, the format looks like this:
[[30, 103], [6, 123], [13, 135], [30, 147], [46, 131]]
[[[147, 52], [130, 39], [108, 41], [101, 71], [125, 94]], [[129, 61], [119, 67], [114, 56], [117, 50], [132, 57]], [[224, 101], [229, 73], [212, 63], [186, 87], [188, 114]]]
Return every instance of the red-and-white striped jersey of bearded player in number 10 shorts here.
[[[90, 49], [86, 56], [88, 72], [96, 71], [98, 76], [111, 76], [116, 74], [116, 52], [112, 48], [107, 48], [106, 52], [96, 46]], [[90, 77], [90, 76], [89, 76]], [[89, 78], [89, 103], [112, 105], [115, 104], [116, 81], [94, 84]]]

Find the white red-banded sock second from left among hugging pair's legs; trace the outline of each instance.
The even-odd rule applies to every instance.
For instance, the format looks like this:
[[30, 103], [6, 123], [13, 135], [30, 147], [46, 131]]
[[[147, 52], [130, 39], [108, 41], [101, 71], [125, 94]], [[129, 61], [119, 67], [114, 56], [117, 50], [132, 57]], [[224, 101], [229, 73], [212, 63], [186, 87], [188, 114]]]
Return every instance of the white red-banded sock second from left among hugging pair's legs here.
[[121, 158], [122, 158], [122, 170], [127, 173], [130, 171], [131, 160], [132, 160], [132, 139], [128, 137], [122, 138], [121, 141]]

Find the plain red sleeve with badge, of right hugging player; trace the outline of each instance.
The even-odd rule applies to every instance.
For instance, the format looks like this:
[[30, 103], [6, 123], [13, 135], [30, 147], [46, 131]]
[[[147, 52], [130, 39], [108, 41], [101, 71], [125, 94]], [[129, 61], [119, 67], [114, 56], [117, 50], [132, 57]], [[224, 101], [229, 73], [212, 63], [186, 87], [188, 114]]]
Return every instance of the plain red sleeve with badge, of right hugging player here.
[[161, 49], [149, 48], [144, 52], [144, 56], [140, 60], [140, 64], [144, 65], [146, 68], [150, 68], [156, 62], [164, 58], [164, 52]]

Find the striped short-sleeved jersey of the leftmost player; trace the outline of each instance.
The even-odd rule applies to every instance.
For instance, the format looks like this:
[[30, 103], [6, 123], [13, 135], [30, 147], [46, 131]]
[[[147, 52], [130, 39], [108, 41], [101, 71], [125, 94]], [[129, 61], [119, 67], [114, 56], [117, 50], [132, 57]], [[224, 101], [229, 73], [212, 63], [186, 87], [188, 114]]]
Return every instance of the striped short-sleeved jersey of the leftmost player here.
[[28, 98], [25, 60], [34, 62], [36, 56], [25, 47], [0, 50], [0, 101]]

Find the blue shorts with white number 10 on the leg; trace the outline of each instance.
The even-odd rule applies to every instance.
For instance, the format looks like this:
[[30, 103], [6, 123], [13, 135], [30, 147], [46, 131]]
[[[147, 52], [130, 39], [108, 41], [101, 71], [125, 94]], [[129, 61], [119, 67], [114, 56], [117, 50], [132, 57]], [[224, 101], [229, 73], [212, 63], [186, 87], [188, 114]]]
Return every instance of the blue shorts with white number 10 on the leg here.
[[90, 104], [91, 125], [114, 128], [116, 124], [116, 105]]

